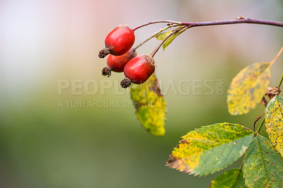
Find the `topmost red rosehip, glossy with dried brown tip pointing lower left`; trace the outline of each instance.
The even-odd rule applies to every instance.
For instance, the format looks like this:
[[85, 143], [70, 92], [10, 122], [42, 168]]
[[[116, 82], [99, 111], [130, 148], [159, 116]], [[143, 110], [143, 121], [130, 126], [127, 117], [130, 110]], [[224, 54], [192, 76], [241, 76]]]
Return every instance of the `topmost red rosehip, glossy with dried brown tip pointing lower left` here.
[[119, 25], [105, 37], [105, 48], [100, 50], [98, 57], [104, 58], [108, 54], [120, 56], [134, 45], [134, 30], [128, 25]]

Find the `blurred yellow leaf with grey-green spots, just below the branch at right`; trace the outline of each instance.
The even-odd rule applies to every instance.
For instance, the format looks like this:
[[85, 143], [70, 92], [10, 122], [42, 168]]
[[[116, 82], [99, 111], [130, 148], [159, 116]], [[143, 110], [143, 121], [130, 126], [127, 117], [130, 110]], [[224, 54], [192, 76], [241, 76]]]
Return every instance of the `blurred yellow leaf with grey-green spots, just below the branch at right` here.
[[230, 114], [246, 114], [260, 103], [270, 83], [270, 66], [269, 62], [251, 64], [233, 78], [227, 95]]

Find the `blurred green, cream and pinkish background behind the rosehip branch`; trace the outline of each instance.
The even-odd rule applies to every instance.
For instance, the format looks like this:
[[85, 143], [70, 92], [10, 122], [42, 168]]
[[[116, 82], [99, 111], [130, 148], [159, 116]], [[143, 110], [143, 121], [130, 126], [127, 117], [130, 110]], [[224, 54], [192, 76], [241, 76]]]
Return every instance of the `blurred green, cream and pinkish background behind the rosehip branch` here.
[[[165, 166], [168, 155], [180, 136], [203, 125], [231, 122], [253, 128], [263, 107], [231, 116], [226, 90], [243, 67], [275, 57], [283, 45], [282, 28], [192, 28], [160, 50], [156, 75], [168, 109], [163, 137], [149, 135], [137, 121], [128, 90], [119, 86], [123, 74], [101, 76], [106, 59], [98, 59], [98, 51], [107, 33], [121, 24], [134, 28], [150, 20], [239, 15], [283, 21], [282, 8], [281, 0], [0, 1], [0, 187], [208, 187], [221, 172], [186, 175]], [[164, 27], [137, 30], [135, 45]], [[138, 53], [149, 54], [156, 45], [152, 40]], [[272, 86], [282, 74], [282, 61], [272, 66]], [[219, 79], [222, 94], [215, 92]], [[62, 80], [70, 86], [59, 95]], [[214, 92], [204, 95], [207, 80]], [[197, 93], [193, 81], [200, 87]]]

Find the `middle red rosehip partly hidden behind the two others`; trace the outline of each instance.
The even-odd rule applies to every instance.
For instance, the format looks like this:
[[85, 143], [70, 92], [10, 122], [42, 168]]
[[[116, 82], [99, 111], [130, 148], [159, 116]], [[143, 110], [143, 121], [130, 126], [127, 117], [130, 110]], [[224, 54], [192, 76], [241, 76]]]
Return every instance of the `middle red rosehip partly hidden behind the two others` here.
[[137, 52], [133, 47], [129, 49], [127, 53], [122, 54], [120, 56], [113, 56], [112, 54], [110, 54], [107, 58], [108, 67], [103, 68], [102, 75], [109, 77], [111, 75], [111, 71], [115, 71], [115, 72], [124, 71], [124, 67], [127, 64], [127, 62], [136, 56], [137, 56]]

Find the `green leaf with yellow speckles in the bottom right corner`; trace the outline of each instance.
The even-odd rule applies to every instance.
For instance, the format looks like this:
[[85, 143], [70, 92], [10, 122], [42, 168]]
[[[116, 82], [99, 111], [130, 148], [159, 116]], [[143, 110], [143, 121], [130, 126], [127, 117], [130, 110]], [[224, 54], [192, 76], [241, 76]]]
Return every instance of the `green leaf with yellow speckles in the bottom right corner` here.
[[283, 159], [269, 139], [256, 136], [243, 159], [243, 177], [248, 187], [283, 187]]

